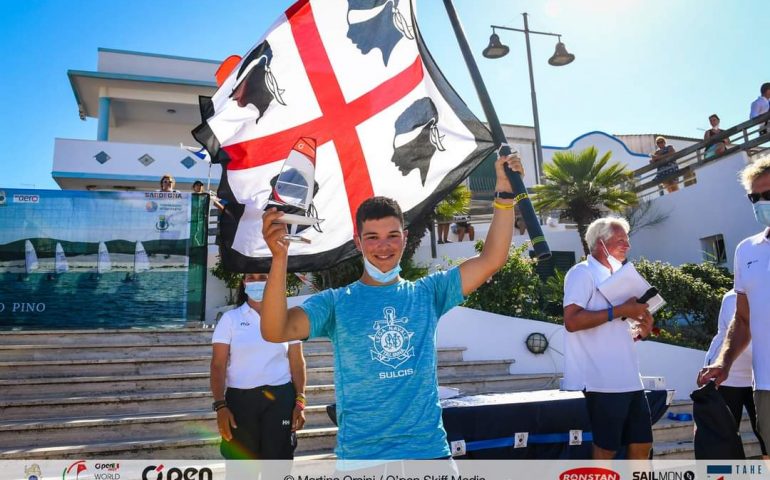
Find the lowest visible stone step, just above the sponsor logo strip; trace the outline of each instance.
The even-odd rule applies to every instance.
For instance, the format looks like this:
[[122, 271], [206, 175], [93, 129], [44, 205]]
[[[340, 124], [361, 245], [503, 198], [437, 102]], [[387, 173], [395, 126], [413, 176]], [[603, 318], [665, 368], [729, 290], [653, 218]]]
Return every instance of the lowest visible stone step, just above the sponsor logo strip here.
[[[297, 455], [331, 452], [337, 429], [309, 429], [297, 434]], [[81, 439], [56, 447], [16, 447], [0, 449], [0, 460], [20, 459], [221, 459], [219, 436], [190, 435], [183, 438], [156, 438], [139, 441], [88, 442]], [[315, 448], [315, 450], [314, 450]]]

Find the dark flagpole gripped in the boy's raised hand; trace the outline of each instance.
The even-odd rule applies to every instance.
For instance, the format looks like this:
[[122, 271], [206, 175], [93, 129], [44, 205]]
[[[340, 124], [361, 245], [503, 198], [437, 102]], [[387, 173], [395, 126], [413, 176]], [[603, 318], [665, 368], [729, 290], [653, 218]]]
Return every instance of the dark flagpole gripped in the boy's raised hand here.
[[[511, 149], [507, 145], [505, 132], [503, 132], [503, 127], [500, 125], [500, 120], [497, 118], [495, 107], [492, 106], [489, 93], [487, 93], [487, 87], [484, 85], [484, 80], [481, 78], [479, 67], [476, 65], [476, 60], [473, 58], [471, 48], [468, 45], [468, 40], [465, 38], [465, 32], [463, 32], [463, 27], [460, 25], [460, 19], [457, 17], [457, 12], [452, 4], [452, 0], [444, 0], [444, 6], [449, 15], [449, 21], [452, 23], [455, 37], [457, 37], [457, 43], [460, 45], [460, 51], [462, 51], [463, 58], [465, 59], [465, 65], [468, 67], [468, 71], [471, 74], [473, 86], [476, 87], [476, 94], [479, 97], [479, 102], [481, 102], [481, 107], [484, 109], [487, 123], [489, 124], [490, 130], [492, 130], [492, 138], [495, 143], [504, 145], [500, 149], [500, 153], [507, 155], [510, 153]], [[529, 194], [527, 193], [527, 188], [524, 186], [524, 182], [521, 180], [521, 175], [508, 168], [507, 165], [505, 166], [505, 174], [508, 177], [508, 181], [511, 182], [513, 192], [516, 194], [519, 211], [524, 217], [524, 223], [527, 225], [527, 233], [532, 242], [532, 249], [535, 251], [535, 257], [538, 260], [550, 258], [551, 249], [545, 241], [543, 230], [540, 227], [540, 220], [537, 218], [535, 209], [532, 207], [532, 201], [529, 199]]]

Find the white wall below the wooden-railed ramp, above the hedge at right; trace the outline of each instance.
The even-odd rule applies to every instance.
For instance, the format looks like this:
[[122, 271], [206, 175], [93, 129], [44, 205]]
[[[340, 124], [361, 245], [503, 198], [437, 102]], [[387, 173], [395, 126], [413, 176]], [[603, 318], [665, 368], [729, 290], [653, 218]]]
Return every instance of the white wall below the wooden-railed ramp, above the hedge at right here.
[[745, 153], [718, 160], [695, 171], [695, 185], [653, 200], [653, 208], [669, 218], [631, 237], [631, 258], [645, 257], [673, 265], [700, 263], [704, 260], [700, 239], [721, 233], [727, 267], [732, 270], [735, 247], [761, 230], [746, 192], [737, 181], [746, 162]]

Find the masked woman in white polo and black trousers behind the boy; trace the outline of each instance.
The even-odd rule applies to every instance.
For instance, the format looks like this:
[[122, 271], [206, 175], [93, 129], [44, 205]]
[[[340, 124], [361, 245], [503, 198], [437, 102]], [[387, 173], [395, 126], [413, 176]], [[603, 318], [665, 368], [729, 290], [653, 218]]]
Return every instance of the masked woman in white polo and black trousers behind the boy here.
[[214, 329], [212, 408], [230, 460], [290, 460], [305, 424], [305, 358], [300, 342], [271, 343], [260, 332], [266, 274], [246, 274], [240, 307]]

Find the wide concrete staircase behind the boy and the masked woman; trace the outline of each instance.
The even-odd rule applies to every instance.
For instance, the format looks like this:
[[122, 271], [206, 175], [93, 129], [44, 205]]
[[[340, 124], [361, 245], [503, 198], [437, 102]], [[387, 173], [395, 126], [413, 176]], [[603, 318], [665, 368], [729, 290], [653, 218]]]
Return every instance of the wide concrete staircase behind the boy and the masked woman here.
[[[0, 460], [219, 459], [208, 329], [0, 332]], [[304, 345], [308, 409], [297, 455], [330, 454], [336, 428], [328, 341]], [[441, 385], [465, 394], [555, 388], [510, 361], [439, 350]]]

